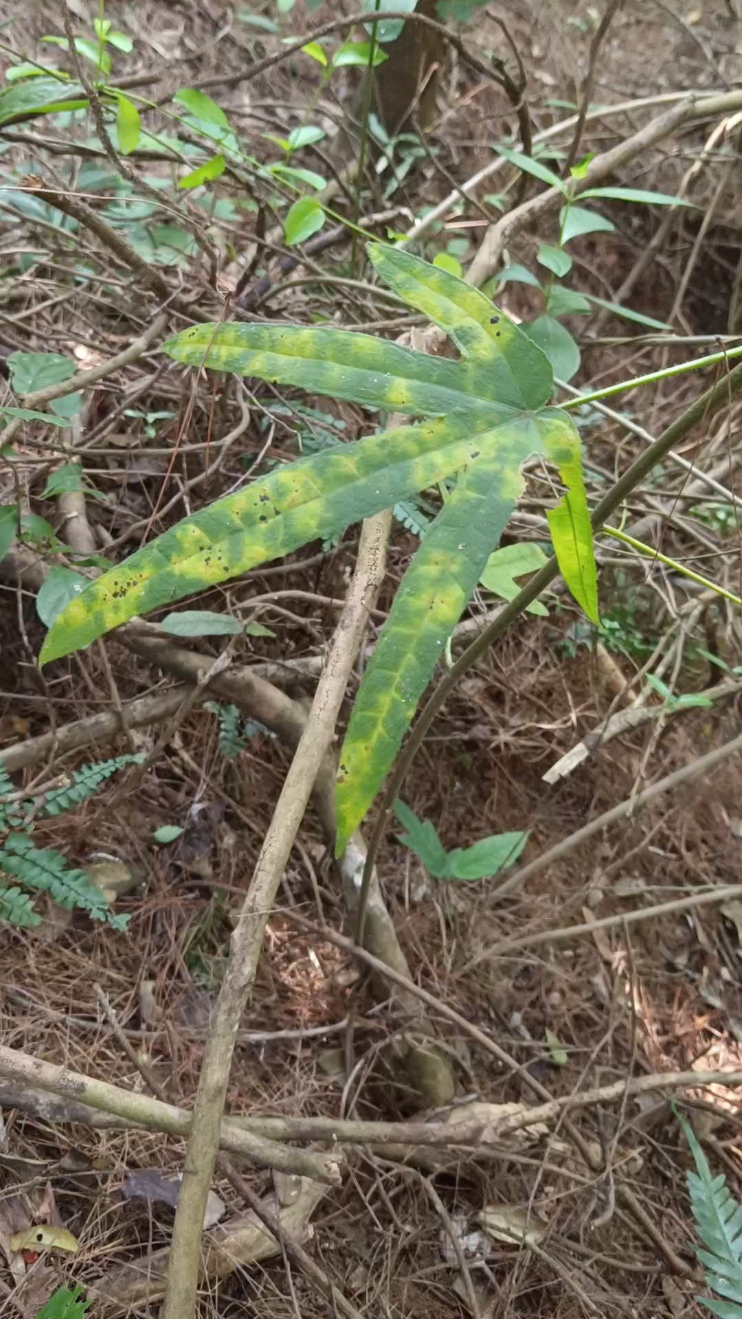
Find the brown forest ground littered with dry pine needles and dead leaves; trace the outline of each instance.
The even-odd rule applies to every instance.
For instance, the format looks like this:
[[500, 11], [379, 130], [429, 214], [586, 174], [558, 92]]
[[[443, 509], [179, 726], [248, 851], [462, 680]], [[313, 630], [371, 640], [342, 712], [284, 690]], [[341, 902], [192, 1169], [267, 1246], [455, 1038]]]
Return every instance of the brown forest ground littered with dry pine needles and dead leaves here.
[[[84, 0], [75, 0], [71, 8], [81, 30], [95, 16]], [[272, 5], [251, 8], [273, 16]], [[284, 34], [309, 30], [355, 8], [325, 3], [309, 13], [300, 3], [285, 16]], [[528, 75], [533, 124], [544, 129], [565, 113], [560, 102], [573, 102], [576, 86], [581, 86], [598, 8], [582, 0], [494, 4], [462, 29], [462, 40], [482, 58], [490, 47], [502, 54], [503, 38], [494, 17], [507, 21]], [[301, 121], [318, 95], [317, 70], [293, 61], [248, 83], [236, 80], [248, 57], [275, 46], [273, 37], [240, 21], [239, 15], [239, 5], [218, 4], [106, 7], [106, 16], [135, 40], [125, 71], [158, 69], [158, 96], [197, 77], [234, 75], [218, 96], [219, 104], [243, 132], [250, 128], [255, 154], [268, 160], [272, 146], [261, 135], [285, 133]], [[61, 13], [46, 0], [22, 9], [3, 4], [0, 18], [5, 44], [0, 55], [8, 46], [24, 58], [41, 59], [49, 51], [41, 38], [63, 30]], [[599, 50], [591, 103], [613, 104], [677, 90], [724, 91], [738, 87], [741, 79], [742, 24], [731, 0], [626, 0]], [[354, 88], [351, 70], [337, 91], [323, 94], [323, 123], [330, 124], [333, 115], [342, 117]], [[647, 113], [636, 107], [589, 121], [585, 150], [614, 145], [635, 132]], [[465, 183], [491, 160], [492, 144], [512, 127], [502, 91], [478, 79], [455, 54], [449, 55], [438, 116], [428, 135], [432, 154], [417, 162], [386, 203], [388, 223], [405, 228], [424, 207], [440, 202], [452, 182]], [[710, 127], [694, 124], [665, 138], [615, 182], [675, 193]], [[33, 214], [8, 211], [8, 171], [24, 164], [36, 170], [38, 146], [33, 140], [45, 135], [55, 136], [33, 123], [4, 133], [11, 145], [4, 146], [0, 161], [0, 253], [3, 265], [8, 262], [8, 285], [21, 280], [12, 255], [32, 249], [41, 232]], [[62, 169], [66, 161], [53, 150], [44, 160], [49, 169], [55, 162]], [[323, 148], [313, 162], [334, 168], [331, 161], [327, 165]], [[724, 187], [724, 165], [716, 162], [700, 173], [693, 193], [698, 208], [677, 219], [632, 289], [631, 306], [665, 321], [687, 277], [673, 324], [689, 336], [727, 332], [730, 288], [741, 253], [738, 136], [733, 164], [735, 170], [725, 175]], [[710, 220], [696, 247], [712, 199]], [[615, 232], [589, 235], [574, 245], [576, 286], [614, 299], [661, 215], [658, 208], [606, 204]], [[469, 222], [466, 227], [462, 220]], [[224, 291], [234, 288], [235, 270], [239, 273], [256, 241], [256, 212], [250, 210], [223, 220]], [[485, 223], [475, 207], [465, 210], [462, 204], [425, 255], [433, 256], [454, 240], [455, 255], [466, 265]], [[525, 231], [508, 252], [510, 260], [528, 264], [535, 247], [536, 233]], [[347, 247], [330, 248], [317, 260], [330, 277], [343, 277]], [[173, 289], [193, 293], [187, 265], [168, 273]], [[293, 272], [292, 280], [297, 274], [301, 270]], [[275, 288], [256, 307], [257, 314], [308, 323], [330, 314], [338, 324], [368, 323], [380, 326], [382, 332], [399, 332], [397, 309], [389, 310], [383, 299], [374, 302], [364, 290], [326, 284], [320, 291], [293, 284], [288, 276], [284, 282], [288, 286], [281, 290], [281, 274], [273, 274]], [[524, 285], [506, 289], [506, 310], [519, 317], [532, 314], [533, 290]], [[59, 291], [65, 297], [55, 301]], [[141, 324], [147, 305], [144, 294], [139, 302], [137, 297], [136, 289], [125, 289]], [[577, 318], [573, 328], [581, 331]], [[124, 322], [108, 295], [98, 302], [94, 295], [70, 295], [59, 261], [54, 266], [48, 257], [22, 272], [20, 297], [0, 302], [3, 359], [18, 347], [53, 350], [74, 353], [84, 367], [96, 353], [120, 351], [136, 332], [133, 321]], [[635, 346], [630, 342], [634, 334]], [[590, 323], [581, 348], [576, 383], [584, 389], [667, 365], [679, 360], [679, 353], [712, 351], [668, 348], [654, 343], [642, 327], [610, 315], [597, 334]], [[710, 383], [708, 375], [702, 384]], [[698, 389], [696, 380], [680, 377], [632, 396], [624, 412], [635, 426], [658, 434]], [[137, 415], [120, 415], [115, 430], [106, 429], [111, 400], [120, 402], [121, 393]], [[346, 438], [356, 438], [363, 426], [371, 429], [359, 409], [326, 400], [310, 402], [339, 422]], [[182, 434], [186, 404], [182, 371], [154, 351], [125, 369], [115, 394], [96, 393], [87, 421], [92, 447], [88, 475], [104, 499], [90, 501], [90, 518], [94, 529], [102, 529], [99, 543], [107, 553], [128, 553], [141, 542], [144, 528], [148, 534], [149, 528], [160, 532], [185, 512], [219, 497], [261, 458], [265, 417], [253, 415], [223, 466], [211, 471], [207, 459], [205, 467], [203, 447], [235, 425], [238, 398], [228, 384], [223, 393], [202, 384], [187, 423], [187, 439], [202, 447], [184, 452], [174, 463], [168, 454]], [[157, 422], [154, 439], [147, 435], [145, 413], [166, 414]], [[738, 405], [729, 409], [726, 430], [714, 431], [717, 452], [729, 455], [730, 475], [724, 479], [730, 484], [739, 415]], [[98, 433], [103, 438], [96, 450]], [[279, 422], [273, 459], [296, 456], [294, 434]], [[606, 474], [610, 477], [642, 445], [621, 422], [606, 418], [586, 429], [584, 439], [595, 481], [591, 493], [601, 492]], [[694, 458], [705, 439], [705, 433], [696, 434], [683, 454]], [[53, 464], [42, 460], [44, 455], [32, 452], [30, 458], [36, 467], [29, 459], [26, 489], [38, 501], [33, 506], [49, 517], [51, 504], [40, 500], [40, 492]], [[660, 481], [632, 497], [632, 517], [652, 510], [647, 499], [680, 497], [675, 471], [668, 468], [661, 476], [664, 485]], [[13, 497], [11, 477], [1, 472], [0, 488], [1, 503]], [[528, 489], [539, 495], [537, 485]], [[527, 518], [519, 524], [516, 514], [514, 538], [527, 526]], [[734, 528], [726, 539], [709, 530], [702, 553], [684, 524], [669, 525], [663, 518], [651, 534], [652, 543], [665, 553], [692, 561], [709, 575], [718, 568], [720, 580], [731, 591], [739, 590]], [[378, 600], [382, 616], [416, 543], [395, 524], [387, 580]], [[255, 616], [272, 636], [248, 638], [239, 660], [263, 665], [263, 673], [272, 665], [276, 683], [306, 703], [356, 545], [358, 529], [351, 528], [339, 545], [309, 545], [280, 566], [255, 570], [205, 592], [189, 607], [239, 612], [264, 598]], [[609, 549], [613, 553], [615, 546]], [[277, 591], [294, 595], [279, 599]], [[33, 596], [34, 590], [20, 580], [5, 576], [0, 586], [0, 752], [168, 686], [168, 677], [152, 661], [115, 638], [106, 648], [96, 644], [59, 662], [41, 679], [34, 657], [45, 629]], [[730, 692], [708, 706], [628, 728], [548, 786], [543, 776], [549, 768], [610, 711], [626, 707], [622, 685], [639, 681], [636, 675], [658, 638], [691, 599], [661, 563], [638, 566], [618, 550], [602, 570], [601, 596], [605, 619], [615, 624], [615, 645], [605, 629], [597, 644], [586, 634], [577, 607], [564, 595], [555, 596], [549, 617], [520, 619], [463, 679], [436, 720], [405, 783], [404, 801], [420, 818], [436, 823], [446, 848], [491, 832], [528, 830], [524, 860], [529, 863], [588, 820], [738, 732], [741, 694]], [[486, 600], [477, 598], [470, 616], [478, 617], [486, 608]], [[720, 681], [714, 649], [730, 667], [742, 662], [733, 615], [733, 607], [724, 603], [692, 613], [685, 649], [679, 652], [676, 690], [697, 692]], [[380, 621], [375, 617], [371, 625], [371, 642]], [[220, 641], [199, 640], [198, 649], [214, 658]], [[287, 667], [290, 665], [293, 669]], [[349, 691], [343, 725], [351, 696]], [[38, 785], [51, 772], [70, 772], [96, 757], [151, 752], [160, 733], [161, 727], [144, 725], [128, 737], [107, 737], [84, 751], [58, 758], [51, 753], [20, 770], [16, 781]], [[129, 925], [118, 933], [42, 900], [38, 930], [0, 929], [0, 1043], [135, 1092], [148, 1088], [144, 1064], [170, 1103], [191, 1107], [232, 917], [290, 756], [279, 737], [253, 727], [235, 758], [226, 758], [217, 716], [198, 706], [186, 714], [144, 777], [136, 769], [127, 770], [74, 813], [40, 818], [37, 847], [53, 847], [81, 865], [123, 863], [133, 886], [116, 910], [129, 917]], [[520, 1066], [514, 1072], [498, 1064], [461, 1028], [432, 1012], [453, 1060], [457, 1103], [473, 1097], [492, 1104], [533, 1103], [528, 1078], [558, 1097], [627, 1076], [742, 1067], [742, 904], [733, 898], [720, 909], [716, 902], [685, 902], [689, 894], [739, 882], [741, 797], [742, 772], [730, 760], [601, 830], [500, 900], [489, 881], [452, 885], [430, 880], [416, 856], [397, 842], [396, 830], [387, 832], [378, 859], [379, 878], [413, 979], [486, 1031]], [[169, 824], [182, 830], [180, 836], [168, 844], [153, 842], [153, 831]], [[635, 919], [638, 910], [676, 898], [679, 910]], [[302, 930], [292, 913], [304, 913], [317, 927], [351, 933], [312, 809], [287, 868], [280, 909], [268, 923], [232, 1066], [227, 1112], [387, 1120], [413, 1116], [413, 1097], [400, 1084], [374, 1074], [382, 1046], [401, 1029], [399, 1002], [379, 1002], [355, 959], [321, 930]], [[617, 919], [590, 933], [589, 925], [603, 917]], [[572, 926], [581, 930], [539, 942], [548, 931]], [[506, 940], [523, 940], [524, 946], [489, 952]], [[123, 1039], [111, 1026], [103, 996]], [[79, 1242], [75, 1256], [54, 1254], [29, 1264], [26, 1290], [20, 1297], [12, 1290], [18, 1277], [0, 1254], [0, 1314], [17, 1308], [24, 1319], [33, 1319], [36, 1304], [59, 1279], [94, 1289], [119, 1265], [169, 1245], [172, 1204], [133, 1198], [129, 1179], [137, 1170], [177, 1174], [184, 1144], [133, 1126], [54, 1120], [38, 1103], [18, 1103], [9, 1084], [0, 1076], [0, 1245], [18, 1229], [18, 1213], [21, 1220], [30, 1212], [34, 1221], [42, 1221], [50, 1204], [57, 1215], [51, 1220]], [[684, 1092], [684, 1111], [692, 1113], [714, 1171], [724, 1171], [733, 1194], [742, 1196], [737, 1093], [721, 1086], [691, 1088]], [[580, 1159], [568, 1121], [593, 1150], [597, 1170], [590, 1171]], [[544, 1132], [520, 1134], [522, 1141], [499, 1142], [486, 1153], [438, 1151], [437, 1163], [404, 1151], [400, 1155], [399, 1150], [354, 1146], [343, 1186], [321, 1199], [305, 1248], [350, 1304], [374, 1319], [445, 1319], [473, 1312], [475, 1319], [507, 1314], [572, 1319], [598, 1312], [683, 1319], [698, 1310], [694, 1298], [702, 1281], [689, 1244], [693, 1227], [685, 1191], [689, 1155], [667, 1092], [574, 1108], [569, 1119], [551, 1122]], [[276, 1194], [268, 1174], [243, 1166], [243, 1175], [260, 1195]], [[244, 1213], [239, 1192], [219, 1173], [214, 1191], [224, 1202], [227, 1219]], [[528, 1245], [508, 1242], [502, 1233], [500, 1239], [487, 1237], [483, 1245], [482, 1223], [498, 1207], [511, 1224], [528, 1219]], [[463, 1272], [452, 1237], [466, 1257]], [[147, 1302], [131, 1308], [151, 1312]], [[91, 1312], [96, 1315], [98, 1308]], [[330, 1315], [337, 1308], [327, 1290], [322, 1294], [279, 1253], [240, 1265], [220, 1281], [205, 1282], [201, 1312], [224, 1319], [238, 1314], [280, 1319], [297, 1312]]]

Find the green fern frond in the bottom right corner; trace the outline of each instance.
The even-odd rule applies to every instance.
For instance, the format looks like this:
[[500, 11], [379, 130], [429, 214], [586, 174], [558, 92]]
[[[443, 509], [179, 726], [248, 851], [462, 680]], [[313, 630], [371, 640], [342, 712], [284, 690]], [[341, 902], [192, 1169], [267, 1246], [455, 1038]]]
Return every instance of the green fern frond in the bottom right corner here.
[[697, 1297], [718, 1319], [742, 1319], [742, 1204], [731, 1195], [722, 1173], [712, 1175], [704, 1154], [689, 1122], [677, 1115], [691, 1153], [696, 1173], [688, 1173], [688, 1194], [691, 1208], [698, 1229], [698, 1236], [706, 1246], [696, 1246], [696, 1254], [704, 1265], [706, 1286], [721, 1299]]

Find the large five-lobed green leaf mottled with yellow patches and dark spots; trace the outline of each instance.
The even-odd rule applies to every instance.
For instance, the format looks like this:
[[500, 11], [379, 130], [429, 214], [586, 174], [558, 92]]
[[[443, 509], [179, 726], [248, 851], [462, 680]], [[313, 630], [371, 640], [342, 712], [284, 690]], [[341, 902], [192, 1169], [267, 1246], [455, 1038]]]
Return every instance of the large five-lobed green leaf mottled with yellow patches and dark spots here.
[[580, 435], [566, 412], [547, 406], [553, 389], [547, 356], [485, 294], [448, 270], [378, 243], [368, 256], [397, 297], [445, 330], [459, 360], [327, 327], [244, 322], [193, 326], [165, 351], [194, 367], [422, 419], [279, 466], [180, 522], [73, 600], [41, 654], [44, 663], [69, 654], [135, 613], [172, 605], [459, 472], [403, 578], [351, 712], [337, 790], [338, 849], [395, 760], [518, 504], [522, 467], [533, 454], [553, 463], [566, 487], [549, 514], [557, 562], [578, 601], [597, 616]]

